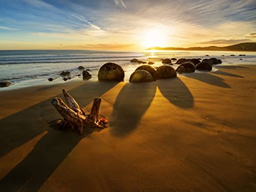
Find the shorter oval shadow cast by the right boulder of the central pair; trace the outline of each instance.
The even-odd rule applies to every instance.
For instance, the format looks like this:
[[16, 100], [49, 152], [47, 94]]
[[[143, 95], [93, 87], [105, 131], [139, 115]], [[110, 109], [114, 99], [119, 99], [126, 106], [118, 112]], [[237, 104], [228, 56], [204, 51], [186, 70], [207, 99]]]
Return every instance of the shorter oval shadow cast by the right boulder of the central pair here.
[[193, 108], [194, 97], [180, 78], [158, 80], [157, 86], [170, 103], [182, 109]]

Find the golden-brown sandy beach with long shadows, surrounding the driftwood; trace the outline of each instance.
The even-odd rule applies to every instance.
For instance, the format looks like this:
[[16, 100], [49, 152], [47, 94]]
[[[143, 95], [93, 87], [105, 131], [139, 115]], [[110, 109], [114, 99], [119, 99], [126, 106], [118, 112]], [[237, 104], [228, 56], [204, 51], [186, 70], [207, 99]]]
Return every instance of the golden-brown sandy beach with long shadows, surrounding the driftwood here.
[[[255, 191], [256, 66], [0, 92], [1, 191]], [[104, 130], [53, 130], [66, 89]]]

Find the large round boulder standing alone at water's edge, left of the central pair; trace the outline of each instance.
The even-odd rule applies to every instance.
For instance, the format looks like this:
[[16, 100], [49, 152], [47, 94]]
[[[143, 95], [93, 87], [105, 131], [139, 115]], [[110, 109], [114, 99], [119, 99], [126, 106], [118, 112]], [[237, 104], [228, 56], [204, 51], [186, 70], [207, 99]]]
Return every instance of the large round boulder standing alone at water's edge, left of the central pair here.
[[124, 71], [121, 66], [113, 62], [107, 62], [98, 72], [98, 80], [104, 81], [122, 81], [124, 78]]

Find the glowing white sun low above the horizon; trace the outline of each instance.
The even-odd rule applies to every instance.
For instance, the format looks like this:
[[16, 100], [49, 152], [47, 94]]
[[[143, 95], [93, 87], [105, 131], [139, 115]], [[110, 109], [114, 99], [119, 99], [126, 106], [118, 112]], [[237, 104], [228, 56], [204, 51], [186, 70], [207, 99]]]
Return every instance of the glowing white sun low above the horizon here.
[[166, 46], [167, 35], [163, 30], [151, 30], [142, 34], [142, 45], [150, 47], [164, 47]]

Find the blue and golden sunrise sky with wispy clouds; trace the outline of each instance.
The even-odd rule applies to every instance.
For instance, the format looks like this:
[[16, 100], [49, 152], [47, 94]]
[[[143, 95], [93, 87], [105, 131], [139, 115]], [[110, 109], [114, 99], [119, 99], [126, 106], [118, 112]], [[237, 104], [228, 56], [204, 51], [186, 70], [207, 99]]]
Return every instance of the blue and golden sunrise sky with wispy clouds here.
[[256, 42], [255, 0], [0, 0], [0, 50]]

